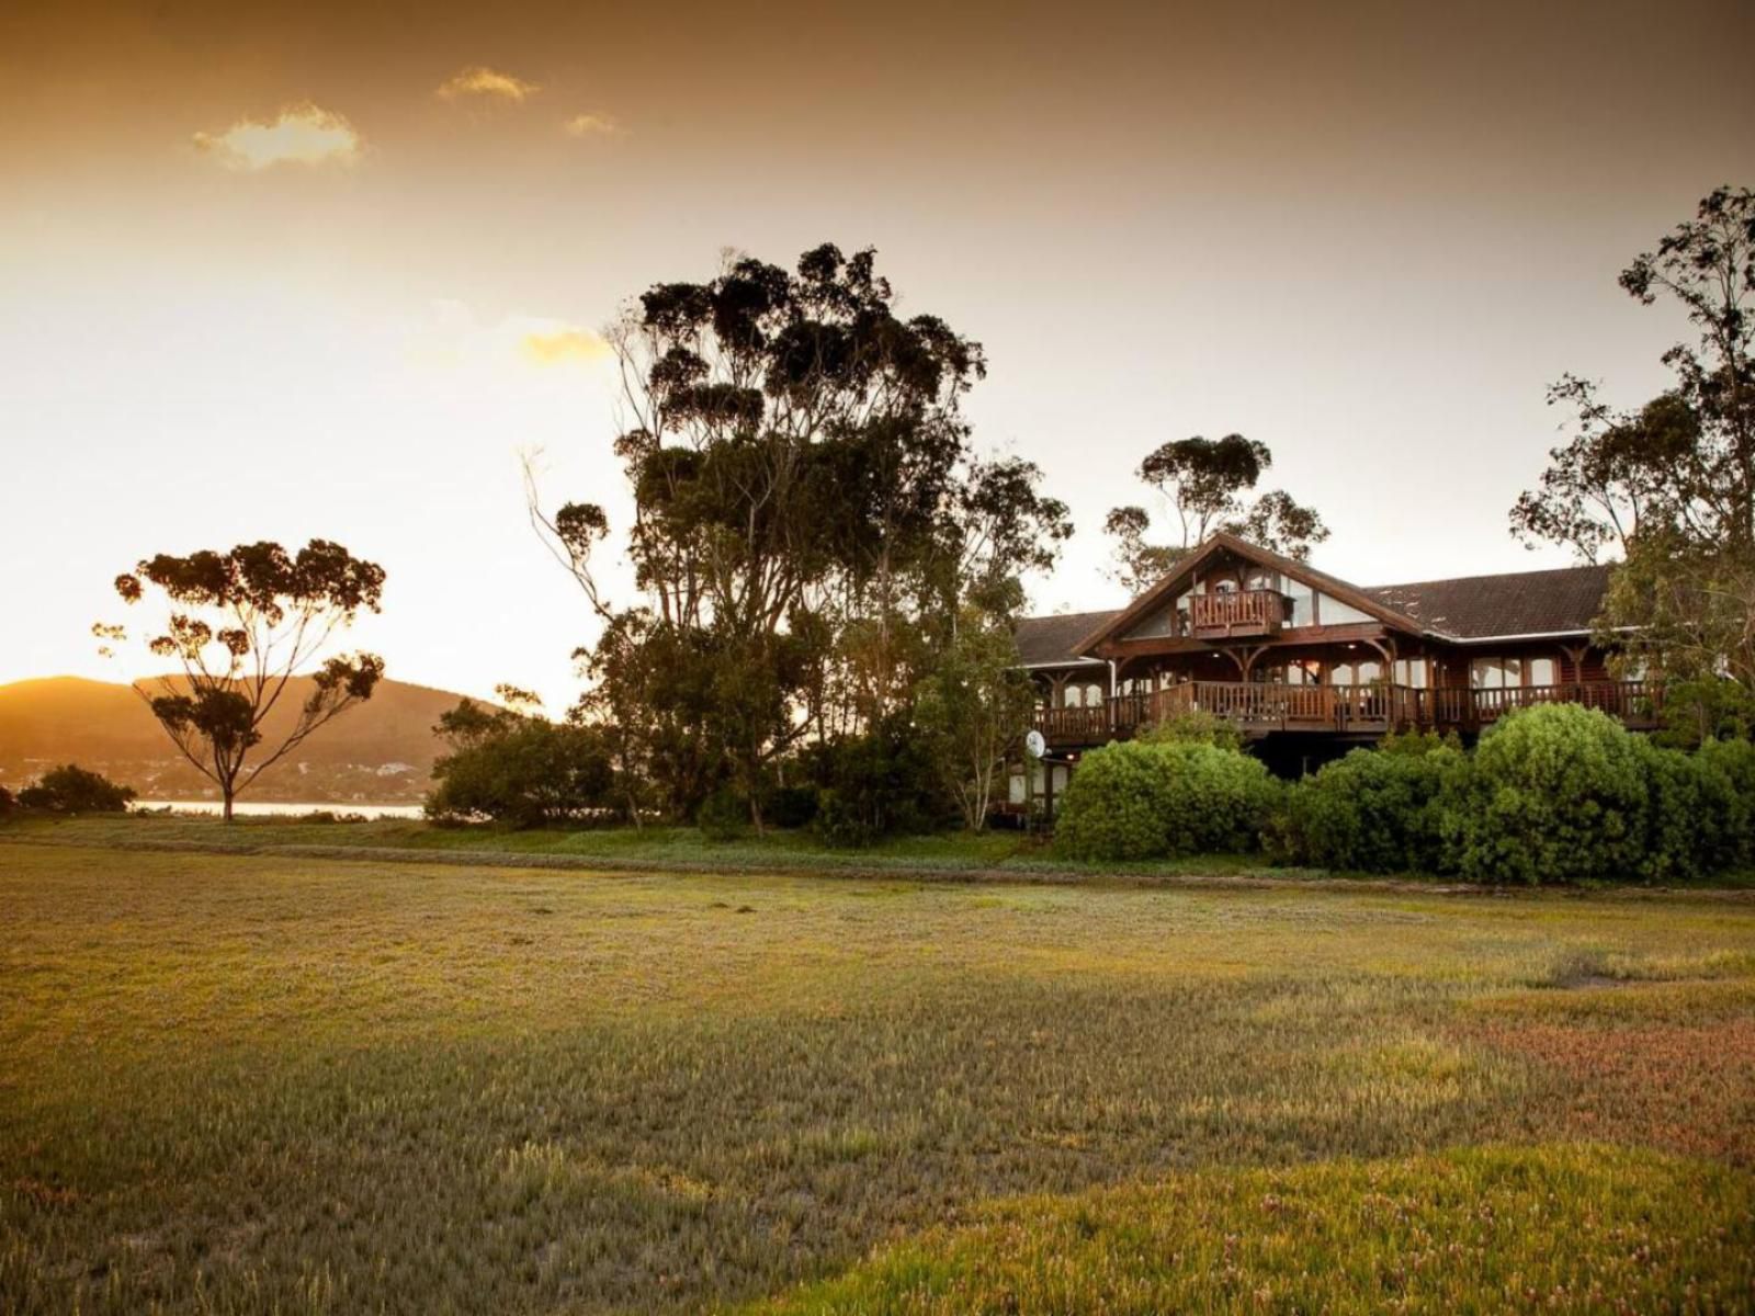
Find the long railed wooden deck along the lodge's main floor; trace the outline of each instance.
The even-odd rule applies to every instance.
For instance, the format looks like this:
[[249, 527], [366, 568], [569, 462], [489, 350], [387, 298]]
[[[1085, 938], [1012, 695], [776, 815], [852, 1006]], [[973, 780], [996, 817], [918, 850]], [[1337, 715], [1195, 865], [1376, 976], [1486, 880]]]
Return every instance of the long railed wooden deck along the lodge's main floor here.
[[1583, 704], [1648, 730], [1657, 725], [1660, 697], [1657, 686], [1646, 681], [1580, 681], [1511, 690], [1190, 681], [1150, 695], [1118, 695], [1095, 709], [1042, 709], [1035, 714], [1035, 728], [1057, 749], [1125, 740], [1141, 726], [1195, 709], [1228, 718], [1248, 735], [1383, 735], [1402, 728], [1478, 732], [1532, 704]]

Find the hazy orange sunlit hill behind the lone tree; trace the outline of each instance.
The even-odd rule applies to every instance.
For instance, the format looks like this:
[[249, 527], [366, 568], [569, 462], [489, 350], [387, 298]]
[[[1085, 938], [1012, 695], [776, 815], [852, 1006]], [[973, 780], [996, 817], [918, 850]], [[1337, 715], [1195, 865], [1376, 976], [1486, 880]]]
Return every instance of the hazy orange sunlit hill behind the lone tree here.
[[[267, 740], [284, 735], [309, 695], [295, 679], [269, 716]], [[374, 802], [419, 800], [433, 760], [439, 714], [458, 695], [381, 681], [293, 755], [261, 774], [246, 798]], [[128, 686], [56, 676], [0, 686], [0, 784], [18, 784], [51, 763], [81, 763], [125, 781], [146, 798], [202, 798], [205, 779], [184, 763], [153, 714]]]

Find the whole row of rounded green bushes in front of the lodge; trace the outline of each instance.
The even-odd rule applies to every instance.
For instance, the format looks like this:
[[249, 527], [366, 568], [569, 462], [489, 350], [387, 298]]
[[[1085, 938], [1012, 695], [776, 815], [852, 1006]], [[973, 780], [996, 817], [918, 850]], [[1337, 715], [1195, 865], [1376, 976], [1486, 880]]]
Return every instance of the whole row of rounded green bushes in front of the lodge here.
[[1755, 863], [1755, 744], [1662, 749], [1553, 704], [1504, 718], [1472, 753], [1388, 737], [1290, 786], [1234, 749], [1113, 744], [1067, 786], [1057, 846], [1086, 860], [1265, 849], [1481, 883], [1701, 879]]

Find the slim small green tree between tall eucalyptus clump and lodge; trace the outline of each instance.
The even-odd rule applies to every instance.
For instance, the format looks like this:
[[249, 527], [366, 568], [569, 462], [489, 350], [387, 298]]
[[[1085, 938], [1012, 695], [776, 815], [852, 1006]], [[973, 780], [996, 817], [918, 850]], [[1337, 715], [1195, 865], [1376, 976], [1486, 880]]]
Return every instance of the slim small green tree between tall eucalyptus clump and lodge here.
[[956, 639], [920, 683], [914, 716], [963, 826], [986, 826], [995, 784], [1030, 726], [1035, 693], [1011, 625], [965, 609]]

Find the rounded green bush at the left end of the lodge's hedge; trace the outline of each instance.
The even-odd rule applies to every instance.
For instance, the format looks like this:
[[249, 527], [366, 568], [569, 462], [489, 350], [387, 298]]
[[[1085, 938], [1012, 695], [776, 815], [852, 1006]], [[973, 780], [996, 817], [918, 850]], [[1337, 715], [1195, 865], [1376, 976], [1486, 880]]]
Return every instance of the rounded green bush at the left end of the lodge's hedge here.
[[1257, 760], [1188, 740], [1093, 749], [1067, 783], [1055, 848], [1078, 860], [1257, 849], [1279, 797]]

